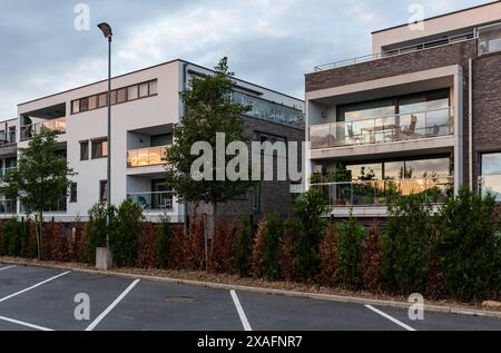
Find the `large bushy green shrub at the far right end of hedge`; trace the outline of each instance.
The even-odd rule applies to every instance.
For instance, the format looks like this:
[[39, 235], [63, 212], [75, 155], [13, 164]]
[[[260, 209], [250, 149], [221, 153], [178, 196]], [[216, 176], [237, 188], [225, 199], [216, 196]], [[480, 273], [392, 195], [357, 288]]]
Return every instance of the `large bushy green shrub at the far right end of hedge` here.
[[[440, 215], [438, 257], [445, 291], [461, 301], [482, 300], [500, 288], [500, 229], [492, 196], [462, 188]], [[491, 292], [491, 293], [490, 293]]]

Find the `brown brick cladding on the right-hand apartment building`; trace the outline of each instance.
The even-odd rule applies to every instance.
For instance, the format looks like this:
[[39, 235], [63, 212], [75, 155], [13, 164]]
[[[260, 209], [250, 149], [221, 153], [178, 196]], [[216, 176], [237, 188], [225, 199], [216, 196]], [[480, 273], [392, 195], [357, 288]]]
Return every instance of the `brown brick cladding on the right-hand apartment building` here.
[[430, 70], [451, 65], [463, 68], [464, 183], [469, 183], [469, 59], [473, 59], [473, 185], [480, 153], [501, 150], [501, 53], [477, 55], [477, 40], [362, 62], [306, 75], [306, 91]]

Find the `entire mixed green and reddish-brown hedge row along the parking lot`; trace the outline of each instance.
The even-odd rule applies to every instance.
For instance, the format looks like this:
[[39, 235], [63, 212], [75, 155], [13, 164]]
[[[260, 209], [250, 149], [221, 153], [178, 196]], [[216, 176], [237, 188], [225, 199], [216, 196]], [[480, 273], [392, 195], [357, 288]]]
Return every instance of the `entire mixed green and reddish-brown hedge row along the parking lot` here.
[[[131, 202], [111, 209], [99, 204], [86, 226], [45, 225], [41, 253], [43, 259], [92, 264], [108, 235], [118, 266], [207, 269], [433, 298], [501, 297], [500, 224], [492, 197], [462, 189], [436, 209], [426, 195], [411, 195], [390, 206], [384, 227], [374, 222], [370, 228], [353, 217], [330, 222], [322, 217], [325, 207], [323, 195], [310, 192], [297, 200], [293, 219], [269, 214], [256, 232], [248, 220], [220, 219], [206, 256], [202, 219], [185, 234], [168, 219], [145, 223]], [[11, 219], [0, 228], [0, 255], [35, 256], [31, 223]]]

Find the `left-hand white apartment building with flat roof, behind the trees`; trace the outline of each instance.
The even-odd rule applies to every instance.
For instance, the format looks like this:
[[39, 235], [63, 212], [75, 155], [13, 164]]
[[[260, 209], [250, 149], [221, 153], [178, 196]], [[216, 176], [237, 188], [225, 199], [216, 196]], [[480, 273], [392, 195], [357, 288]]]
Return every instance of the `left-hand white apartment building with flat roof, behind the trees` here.
[[[173, 223], [185, 220], [185, 205], [166, 189], [163, 159], [173, 144], [173, 127], [185, 112], [179, 92], [188, 87], [191, 77], [212, 73], [197, 65], [174, 60], [112, 79], [114, 204], [131, 198], [145, 208], [149, 220], [158, 220], [160, 216], [168, 216]], [[57, 131], [58, 149], [66, 155], [76, 176], [69, 196], [48, 210], [48, 219], [85, 220], [92, 205], [106, 199], [106, 92], [107, 81], [99, 81], [23, 102], [18, 107], [18, 119], [4, 122], [3, 130], [0, 126], [0, 136], [6, 137], [7, 144], [0, 146], [2, 170], [14, 166], [16, 147], [27, 147], [31, 137], [41, 130]], [[256, 138], [304, 139], [304, 101], [239, 79], [235, 79], [233, 99], [253, 107], [244, 118]], [[262, 197], [263, 190], [255, 192], [259, 194], [242, 196], [249, 202], [238, 209], [240, 214], [258, 212], [253, 209], [253, 199], [258, 199], [259, 205], [266, 203], [268, 208], [282, 207], [279, 200], [292, 199], [289, 184], [268, 198]], [[0, 197], [3, 197], [0, 198], [1, 216], [23, 214], [18, 202], [7, 200], [4, 195]]]

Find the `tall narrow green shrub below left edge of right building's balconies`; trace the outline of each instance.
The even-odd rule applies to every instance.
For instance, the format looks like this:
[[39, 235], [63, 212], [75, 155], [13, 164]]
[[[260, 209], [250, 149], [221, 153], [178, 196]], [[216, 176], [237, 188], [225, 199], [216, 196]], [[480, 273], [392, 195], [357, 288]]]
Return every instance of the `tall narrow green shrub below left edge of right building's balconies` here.
[[325, 219], [328, 212], [327, 198], [312, 189], [294, 204], [296, 239], [294, 245], [294, 267], [302, 281], [314, 280], [320, 274], [320, 244], [325, 234]]

